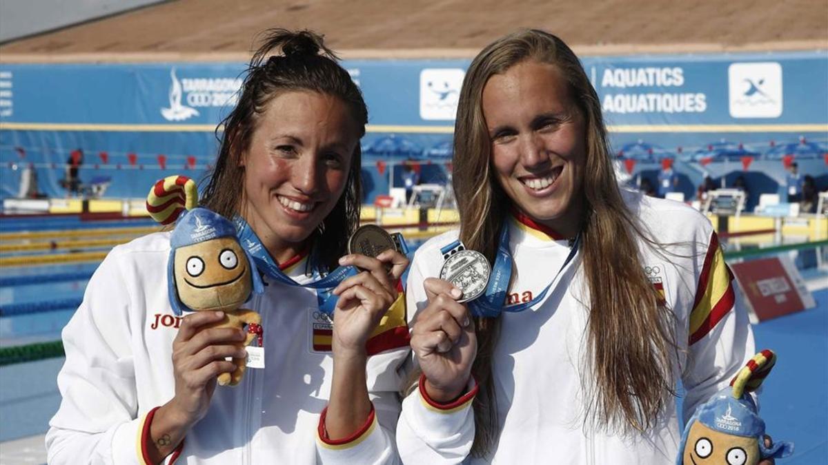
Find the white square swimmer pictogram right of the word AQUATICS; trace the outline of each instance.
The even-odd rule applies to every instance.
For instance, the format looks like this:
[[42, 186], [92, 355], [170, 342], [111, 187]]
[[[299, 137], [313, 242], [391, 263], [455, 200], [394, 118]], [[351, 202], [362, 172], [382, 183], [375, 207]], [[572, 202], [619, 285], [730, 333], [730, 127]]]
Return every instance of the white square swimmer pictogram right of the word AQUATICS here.
[[731, 117], [782, 115], [782, 65], [734, 63], [728, 68]]

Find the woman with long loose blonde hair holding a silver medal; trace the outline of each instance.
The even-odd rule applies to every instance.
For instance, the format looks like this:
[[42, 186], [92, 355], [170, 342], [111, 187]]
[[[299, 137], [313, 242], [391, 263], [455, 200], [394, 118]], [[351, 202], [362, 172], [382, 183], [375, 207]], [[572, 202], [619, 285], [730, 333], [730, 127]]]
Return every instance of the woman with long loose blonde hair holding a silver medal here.
[[[610, 153], [559, 38], [518, 31], [474, 58], [460, 230], [426, 242], [408, 278], [421, 376], [397, 424], [404, 462], [675, 463], [678, 383], [687, 418], [753, 354], [710, 222], [619, 189]], [[476, 300], [477, 271], [439, 279], [447, 261], [479, 265], [458, 264], [464, 248], [493, 265]]]

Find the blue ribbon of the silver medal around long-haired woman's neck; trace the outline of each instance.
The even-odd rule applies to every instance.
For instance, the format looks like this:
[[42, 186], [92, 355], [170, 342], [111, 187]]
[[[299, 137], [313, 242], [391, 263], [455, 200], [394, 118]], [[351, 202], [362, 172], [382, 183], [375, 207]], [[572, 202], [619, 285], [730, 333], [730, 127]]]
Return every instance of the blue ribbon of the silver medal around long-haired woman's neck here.
[[[561, 266], [561, 269], [555, 274], [555, 277], [534, 299], [524, 302], [522, 304], [515, 304], [506, 306], [506, 295], [508, 291], [509, 280], [512, 279], [512, 252], [509, 251], [509, 226], [504, 224], [500, 232], [500, 241], [498, 242], [497, 255], [494, 257], [494, 266], [492, 266], [492, 274], [489, 276], [489, 283], [486, 285], [484, 294], [475, 300], [468, 302], [469, 310], [474, 316], [481, 316], [485, 318], [495, 318], [501, 312], [522, 312], [525, 309], [532, 307], [546, 297], [546, 293], [553, 285], [556, 285], [561, 272], [566, 269], [578, 253], [580, 247], [580, 232], [575, 236], [575, 241], [572, 242], [570, 253], [566, 256], [566, 261]], [[455, 250], [464, 250], [465, 246], [460, 241], [455, 241], [440, 249], [444, 258], [447, 258], [451, 252]]]

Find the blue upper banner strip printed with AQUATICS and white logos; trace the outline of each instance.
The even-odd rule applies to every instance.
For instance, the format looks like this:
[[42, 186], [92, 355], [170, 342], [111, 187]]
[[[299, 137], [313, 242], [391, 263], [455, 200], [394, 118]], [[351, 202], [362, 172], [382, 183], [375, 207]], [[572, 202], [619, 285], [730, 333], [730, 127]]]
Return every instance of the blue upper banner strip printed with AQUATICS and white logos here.
[[[612, 126], [828, 123], [828, 52], [585, 57]], [[468, 60], [349, 60], [371, 123], [451, 125]], [[0, 122], [214, 125], [240, 63], [0, 65]]]

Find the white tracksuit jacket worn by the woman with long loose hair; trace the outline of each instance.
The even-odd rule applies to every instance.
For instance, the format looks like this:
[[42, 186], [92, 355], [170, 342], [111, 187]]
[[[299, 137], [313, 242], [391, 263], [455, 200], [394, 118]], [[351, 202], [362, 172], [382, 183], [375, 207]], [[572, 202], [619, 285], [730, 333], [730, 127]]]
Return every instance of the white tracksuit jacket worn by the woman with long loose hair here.
[[[683, 416], [723, 388], [753, 355], [753, 334], [737, 304], [734, 285], [717, 246], [710, 222], [676, 202], [643, 198], [624, 192], [643, 226], [662, 243], [678, 242], [659, 256], [640, 246], [643, 266], [653, 285], [662, 290], [676, 315], [680, 345], [674, 361], [686, 389]], [[566, 260], [566, 241], [554, 240], [527, 222], [508, 219], [510, 249], [517, 267], [510, 290], [512, 303], [537, 295]], [[457, 237], [446, 232], [417, 250], [408, 277], [409, 318], [423, 309], [421, 282], [439, 276], [444, 247]], [[585, 362], [588, 301], [579, 256], [562, 271], [561, 280], [540, 304], [519, 313], [503, 313], [493, 357], [498, 402], [499, 441], [489, 457], [470, 463], [676, 463], [681, 439], [676, 405], [670, 402], [657, 427], [646, 434], [622, 437], [587, 426], [589, 392], [595, 386]], [[414, 316], [416, 318], [416, 316]], [[582, 382], [583, 381], [583, 382]], [[415, 390], [403, 401], [397, 424], [397, 448], [404, 463], [460, 463], [474, 439], [476, 388], [451, 405], [438, 405]]]

